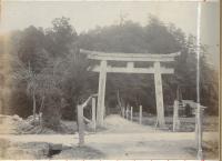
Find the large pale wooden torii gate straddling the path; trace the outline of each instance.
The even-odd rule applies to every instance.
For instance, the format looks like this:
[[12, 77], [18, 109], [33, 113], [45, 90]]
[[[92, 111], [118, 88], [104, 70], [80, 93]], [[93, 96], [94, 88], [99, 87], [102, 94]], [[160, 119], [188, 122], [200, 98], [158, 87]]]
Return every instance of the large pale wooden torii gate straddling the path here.
[[[103, 125], [104, 119], [104, 97], [105, 97], [105, 81], [108, 72], [115, 73], [153, 73], [155, 83], [155, 101], [158, 124], [160, 128], [165, 127], [164, 107], [163, 107], [163, 91], [162, 91], [162, 74], [172, 74], [174, 69], [161, 66], [161, 62], [174, 61], [180, 52], [169, 54], [153, 54], [153, 53], [107, 53], [80, 49], [80, 52], [87, 53], [88, 59], [99, 60], [100, 66], [92, 68], [93, 72], [99, 72], [99, 89], [98, 89], [98, 107], [97, 107], [97, 125]], [[108, 66], [108, 61], [124, 61], [127, 67]], [[153, 62], [151, 68], [134, 68], [134, 62]]]

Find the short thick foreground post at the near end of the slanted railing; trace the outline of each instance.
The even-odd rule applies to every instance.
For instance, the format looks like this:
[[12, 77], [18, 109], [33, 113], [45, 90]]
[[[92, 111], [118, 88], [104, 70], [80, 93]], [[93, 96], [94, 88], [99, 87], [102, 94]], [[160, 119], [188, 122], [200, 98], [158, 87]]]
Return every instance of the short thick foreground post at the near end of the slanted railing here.
[[83, 122], [83, 108], [78, 104], [78, 131], [79, 131], [79, 147], [84, 144], [84, 122]]

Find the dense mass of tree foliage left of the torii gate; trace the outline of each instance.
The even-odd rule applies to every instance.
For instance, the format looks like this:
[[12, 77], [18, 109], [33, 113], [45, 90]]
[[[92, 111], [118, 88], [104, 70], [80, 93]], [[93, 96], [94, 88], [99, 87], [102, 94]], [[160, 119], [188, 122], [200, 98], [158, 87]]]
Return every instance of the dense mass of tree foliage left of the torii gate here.
[[[84, 85], [80, 82], [83, 82], [87, 70], [78, 60], [77, 33], [69, 20], [56, 19], [52, 24], [53, 27], [46, 31], [29, 27], [13, 33], [11, 72], [13, 88], [22, 89], [19, 88], [22, 84], [28, 100], [32, 98], [33, 114], [41, 112], [43, 125], [58, 129], [62, 108], [65, 108], [65, 104], [69, 107], [64, 117], [70, 115], [70, 110], [74, 111], [73, 100], [81, 93], [78, 90]], [[79, 77], [80, 73], [82, 77]], [[16, 95], [12, 93], [12, 97]], [[27, 112], [20, 111], [20, 114], [26, 117]], [[69, 119], [74, 119], [73, 114], [74, 112]]]

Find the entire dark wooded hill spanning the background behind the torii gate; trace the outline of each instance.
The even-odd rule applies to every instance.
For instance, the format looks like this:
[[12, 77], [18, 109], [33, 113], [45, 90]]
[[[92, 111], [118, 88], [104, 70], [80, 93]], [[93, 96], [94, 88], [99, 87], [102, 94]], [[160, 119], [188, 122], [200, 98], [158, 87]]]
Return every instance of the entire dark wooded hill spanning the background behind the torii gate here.
[[[172, 23], [164, 24], [155, 17], [150, 17], [145, 27], [125, 20], [79, 34], [68, 18], [57, 18], [49, 29], [31, 26], [13, 31], [8, 43], [11, 71], [7, 77], [10, 78], [11, 92], [3, 107], [9, 109], [8, 113], [21, 117], [41, 111], [46, 125], [59, 123], [60, 118], [75, 119], [77, 104], [97, 93], [98, 73], [87, 70], [94, 62], [89, 62], [79, 52], [80, 48], [125, 53], [167, 54], [181, 51], [175, 62], [164, 64], [175, 69], [174, 74], [163, 77], [164, 104], [173, 104], [176, 89], [180, 89], [180, 99], [196, 99], [195, 38], [186, 36]], [[201, 104], [208, 107], [208, 114], [218, 114], [218, 74], [208, 64], [206, 54], [209, 51], [202, 44]], [[124, 104], [142, 104], [145, 111], [155, 113], [152, 74], [109, 73], [105, 93], [108, 109], [117, 107], [118, 93]]]

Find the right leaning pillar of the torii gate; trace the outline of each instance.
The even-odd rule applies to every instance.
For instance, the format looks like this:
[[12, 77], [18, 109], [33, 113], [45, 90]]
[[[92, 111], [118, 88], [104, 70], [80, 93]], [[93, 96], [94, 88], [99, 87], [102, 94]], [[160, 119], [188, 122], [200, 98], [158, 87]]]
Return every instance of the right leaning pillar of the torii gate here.
[[155, 102], [158, 113], [158, 125], [165, 128], [164, 107], [163, 107], [163, 91], [160, 62], [154, 62], [154, 81], [155, 81]]

